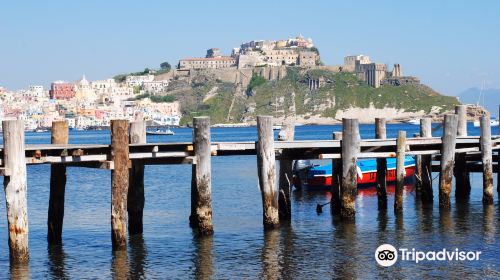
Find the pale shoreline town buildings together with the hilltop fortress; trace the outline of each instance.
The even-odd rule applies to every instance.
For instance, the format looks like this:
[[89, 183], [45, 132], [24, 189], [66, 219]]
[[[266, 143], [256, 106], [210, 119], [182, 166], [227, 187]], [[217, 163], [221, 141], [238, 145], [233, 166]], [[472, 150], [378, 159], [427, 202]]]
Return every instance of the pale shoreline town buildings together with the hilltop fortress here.
[[[221, 80], [248, 84], [255, 74], [279, 79], [286, 75], [286, 67], [352, 72], [375, 88], [420, 83], [416, 77], [403, 76], [399, 64], [389, 71], [386, 64], [372, 62], [366, 55], [345, 56], [343, 65], [323, 65], [313, 40], [297, 36], [242, 43], [230, 55], [211, 48], [205, 57], [180, 59], [176, 69], [165, 62], [159, 70], [146, 69], [105, 80], [89, 81], [85, 75], [73, 82], [57, 80], [49, 89], [42, 85], [15, 91], [0, 87], [0, 118], [22, 118], [26, 130], [31, 131], [50, 128], [52, 121], [59, 119], [81, 130], [107, 127], [115, 118], [143, 118], [153, 126], [177, 126], [182, 114], [180, 102], [169, 98], [172, 80], [190, 82], [198, 72], [212, 71]], [[309, 86], [315, 88], [321, 83], [320, 79], [310, 80]]]

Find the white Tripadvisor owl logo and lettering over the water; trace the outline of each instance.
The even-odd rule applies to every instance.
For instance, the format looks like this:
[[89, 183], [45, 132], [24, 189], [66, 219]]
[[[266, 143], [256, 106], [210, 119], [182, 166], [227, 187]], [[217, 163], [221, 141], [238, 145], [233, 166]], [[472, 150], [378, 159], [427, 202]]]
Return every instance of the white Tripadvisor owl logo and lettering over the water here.
[[375, 250], [375, 260], [381, 266], [392, 266], [398, 261], [410, 261], [419, 263], [421, 261], [478, 261], [481, 251], [460, 251], [442, 249], [439, 251], [418, 251], [415, 248], [396, 249], [391, 244], [382, 244]]

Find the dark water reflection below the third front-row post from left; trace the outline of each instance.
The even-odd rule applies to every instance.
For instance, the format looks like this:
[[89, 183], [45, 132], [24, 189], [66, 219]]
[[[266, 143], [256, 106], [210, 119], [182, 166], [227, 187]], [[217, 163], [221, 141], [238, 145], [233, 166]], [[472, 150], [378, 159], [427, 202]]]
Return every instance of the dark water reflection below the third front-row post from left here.
[[212, 279], [214, 275], [213, 236], [197, 236], [193, 232], [195, 247], [194, 278]]

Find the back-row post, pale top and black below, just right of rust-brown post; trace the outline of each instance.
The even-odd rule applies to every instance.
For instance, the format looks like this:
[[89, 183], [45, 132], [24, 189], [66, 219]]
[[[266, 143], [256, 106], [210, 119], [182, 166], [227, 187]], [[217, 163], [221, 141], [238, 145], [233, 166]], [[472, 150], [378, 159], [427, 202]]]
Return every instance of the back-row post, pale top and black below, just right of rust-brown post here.
[[[130, 144], [146, 143], [146, 123], [142, 120], [130, 124]], [[129, 185], [127, 195], [128, 232], [140, 234], [143, 231], [144, 211], [144, 162], [140, 159], [132, 161], [129, 170]]]

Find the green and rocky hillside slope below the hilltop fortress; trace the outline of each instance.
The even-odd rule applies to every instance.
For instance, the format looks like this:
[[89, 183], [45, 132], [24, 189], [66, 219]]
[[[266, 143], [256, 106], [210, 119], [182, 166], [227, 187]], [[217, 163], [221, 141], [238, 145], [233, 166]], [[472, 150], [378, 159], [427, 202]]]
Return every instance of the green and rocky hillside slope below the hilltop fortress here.
[[[326, 82], [311, 91], [308, 77], [322, 77]], [[181, 102], [182, 123], [199, 115], [209, 115], [214, 124], [253, 122], [259, 114], [278, 119], [296, 116], [302, 123], [332, 123], [342, 117], [367, 122], [375, 117], [404, 119], [438, 114], [458, 104], [455, 97], [440, 95], [425, 85], [375, 89], [352, 73], [288, 67], [281, 80], [258, 80], [247, 87], [199, 75], [190, 83], [173, 80], [167, 94]]]

